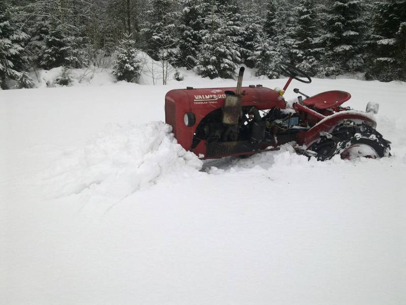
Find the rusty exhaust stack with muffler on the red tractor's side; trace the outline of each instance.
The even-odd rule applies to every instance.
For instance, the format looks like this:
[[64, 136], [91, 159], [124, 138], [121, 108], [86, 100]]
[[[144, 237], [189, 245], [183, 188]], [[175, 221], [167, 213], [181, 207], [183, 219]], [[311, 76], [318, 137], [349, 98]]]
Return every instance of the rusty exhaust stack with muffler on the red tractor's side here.
[[240, 68], [240, 72], [238, 74], [237, 88], [235, 89], [235, 95], [227, 94], [226, 92], [222, 119], [222, 123], [224, 125], [234, 125], [234, 126], [238, 125], [238, 120], [240, 118], [241, 113], [242, 96], [240, 94], [241, 94], [241, 86], [243, 84], [244, 70], [245, 70], [244, 67]]

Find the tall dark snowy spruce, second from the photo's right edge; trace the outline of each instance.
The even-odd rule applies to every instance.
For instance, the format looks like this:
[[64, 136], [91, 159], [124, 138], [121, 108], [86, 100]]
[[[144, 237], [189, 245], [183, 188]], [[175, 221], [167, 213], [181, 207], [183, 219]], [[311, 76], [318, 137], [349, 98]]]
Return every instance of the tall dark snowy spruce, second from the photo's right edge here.
[[347, 71], [363, 68], [362, 43], [366, 31], [362, 0], [338, 0], [329, 9], [325, 41]]

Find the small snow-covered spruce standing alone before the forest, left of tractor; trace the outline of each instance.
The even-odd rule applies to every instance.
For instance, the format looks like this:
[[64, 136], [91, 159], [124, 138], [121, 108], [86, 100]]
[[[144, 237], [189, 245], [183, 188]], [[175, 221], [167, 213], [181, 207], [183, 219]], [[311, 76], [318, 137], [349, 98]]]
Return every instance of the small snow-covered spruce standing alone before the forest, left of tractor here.
[[133, 82], [140, 76], [141, 61], [138, 58], [139, 50], [136, 42], [126, 35], [116, 48], [117, 59], [114, 62], [113, 74], [117, 80]]

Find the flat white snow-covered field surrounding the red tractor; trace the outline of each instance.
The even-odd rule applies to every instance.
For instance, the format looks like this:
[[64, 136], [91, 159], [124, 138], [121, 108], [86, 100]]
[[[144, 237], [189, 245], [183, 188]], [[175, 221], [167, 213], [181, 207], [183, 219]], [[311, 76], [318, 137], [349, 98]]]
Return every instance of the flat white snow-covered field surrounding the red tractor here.
[[406, 84], [294, 81], [380, 103], [393, 157], [327, 162], [201, 162], [162, 123], [186, 85], [235, 82], [0, 92], [1, 304], [406, 303]]

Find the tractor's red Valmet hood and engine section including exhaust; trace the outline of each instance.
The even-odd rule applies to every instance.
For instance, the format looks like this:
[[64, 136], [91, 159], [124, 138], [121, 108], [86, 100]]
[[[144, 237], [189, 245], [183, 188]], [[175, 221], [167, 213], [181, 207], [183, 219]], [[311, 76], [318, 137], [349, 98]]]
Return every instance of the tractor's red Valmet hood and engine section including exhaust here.
[[168, 92], [165, 121], [173, 127], [178, 143], [200, 158], [249, 155], [275, 147], [286, 118], [292, 119], [281, 111], [285, 100], [275, 90], [241, 83], [240, 70], [236, 88], [187, 87]]

